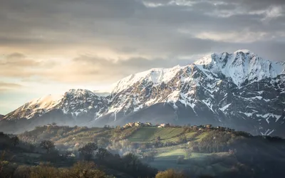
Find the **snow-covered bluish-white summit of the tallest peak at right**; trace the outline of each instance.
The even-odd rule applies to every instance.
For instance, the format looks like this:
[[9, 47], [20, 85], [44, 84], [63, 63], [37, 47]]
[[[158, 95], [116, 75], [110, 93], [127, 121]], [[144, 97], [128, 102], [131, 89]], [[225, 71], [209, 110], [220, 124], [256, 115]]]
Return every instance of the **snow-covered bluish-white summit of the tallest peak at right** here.
[[265, 78], [276, 78], [284, 74], [284, 63], [267, 61], [249, 50], [239, 50], [234, 53], [212, 53], [195, 62], [202, 70], [214, 75], [224, 75], [231, 78], [238, 86], [246, 80], [259, 81]]

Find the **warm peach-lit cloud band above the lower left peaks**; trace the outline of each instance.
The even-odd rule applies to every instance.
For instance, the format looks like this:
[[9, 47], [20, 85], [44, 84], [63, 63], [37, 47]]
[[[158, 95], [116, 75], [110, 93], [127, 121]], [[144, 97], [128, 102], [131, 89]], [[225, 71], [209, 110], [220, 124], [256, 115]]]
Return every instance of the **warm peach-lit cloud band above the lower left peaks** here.
[[[123, 49], [126, 50], [126, 49]], [[133, 49], [127, 49], [133, 51]], [[105, 58], [96, 55], [80, 55], [71, 60], [45, 61], [33, 59], [22, 53], [11, 53], [0, 58], [0, 75], [6, 80], [23, 83], [113, 83], [115, 80], [149, 68], [185, 65], [190, 60], [179, 58]], [[1, 90], [14, 89], [13, 83], [0, 83]]]

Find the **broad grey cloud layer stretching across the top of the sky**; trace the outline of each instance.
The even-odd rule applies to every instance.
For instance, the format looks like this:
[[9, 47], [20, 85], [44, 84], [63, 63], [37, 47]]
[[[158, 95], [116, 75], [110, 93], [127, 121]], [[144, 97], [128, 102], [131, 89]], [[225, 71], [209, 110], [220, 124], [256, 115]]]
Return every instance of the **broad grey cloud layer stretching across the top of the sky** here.
[[[1, 4], [0, 22], [0, 49], [70, 58], [102, 50], [112, 58], [198, 55], [246, 36], [258, 36], [247, 42], [271, 40], [285, 28], [284, 1], [265, 0], [15, 0]], [[177, 32], [181, 28], [190, 33]]]

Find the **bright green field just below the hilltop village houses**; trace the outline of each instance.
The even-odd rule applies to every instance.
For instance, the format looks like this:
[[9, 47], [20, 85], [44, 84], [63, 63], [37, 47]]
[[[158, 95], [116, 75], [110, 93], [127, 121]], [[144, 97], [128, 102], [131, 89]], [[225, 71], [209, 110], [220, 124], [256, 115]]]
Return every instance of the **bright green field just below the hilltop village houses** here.
[[128, 137], [130, 142], [152, 142], [160, 137], [162, 142], [175, 141], [183, 132], [182, 128], [141, 127]]

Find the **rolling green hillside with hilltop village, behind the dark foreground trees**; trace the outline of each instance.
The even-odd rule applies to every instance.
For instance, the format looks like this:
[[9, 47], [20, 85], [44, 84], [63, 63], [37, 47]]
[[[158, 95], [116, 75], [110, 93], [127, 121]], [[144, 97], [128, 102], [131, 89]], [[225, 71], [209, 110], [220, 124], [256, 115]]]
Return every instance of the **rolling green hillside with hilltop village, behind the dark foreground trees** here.
[[285, 164], [285, 140], [252, 136], [226, 127], [88, 128], [55, 125], [37, 127], [18, 136], [35, 144], [49, 139], [55, 142], [57, 149], [71, 152], [77, 152], [88, 142], [96, 142], [113, 154], [133, 152], [157, 169], [172, 168], [192, 175], [270, 177], [284, 173], [281, 165]]

